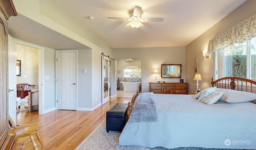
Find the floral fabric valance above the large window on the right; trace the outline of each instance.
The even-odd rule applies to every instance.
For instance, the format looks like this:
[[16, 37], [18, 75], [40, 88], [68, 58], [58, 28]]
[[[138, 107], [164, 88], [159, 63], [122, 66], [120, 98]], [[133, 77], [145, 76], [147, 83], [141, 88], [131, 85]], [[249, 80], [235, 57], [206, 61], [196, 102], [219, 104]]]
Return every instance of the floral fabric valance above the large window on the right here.
[[224, 49], [234, 43], [241, 43], [255, 36], [256, 14], [211, 39], [207, 53], [214, 53], [216, 50]]

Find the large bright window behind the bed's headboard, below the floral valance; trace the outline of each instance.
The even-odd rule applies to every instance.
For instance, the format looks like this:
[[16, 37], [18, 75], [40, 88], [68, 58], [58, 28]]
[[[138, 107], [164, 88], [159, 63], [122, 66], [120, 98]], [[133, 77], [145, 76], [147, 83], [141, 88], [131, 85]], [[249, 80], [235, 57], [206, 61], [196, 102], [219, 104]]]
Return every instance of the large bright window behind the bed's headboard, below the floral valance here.
[[256, 81], [256, 38], [217, 51], [218, 78], [244, 77]]

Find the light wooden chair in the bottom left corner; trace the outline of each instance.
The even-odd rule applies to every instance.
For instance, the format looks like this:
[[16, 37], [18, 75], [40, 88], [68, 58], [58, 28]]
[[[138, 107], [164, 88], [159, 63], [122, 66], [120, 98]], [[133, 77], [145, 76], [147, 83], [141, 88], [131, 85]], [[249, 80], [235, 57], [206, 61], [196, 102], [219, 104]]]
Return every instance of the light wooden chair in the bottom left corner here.
[[40, 134], [38, 133], [38, 129], [40, 128], [40, 123], [39, 122], [34, 122], [34, 123], [30, 123], [30, 124], [24, 124], [21, 126], [16, 126], [14, 125], [14, 121], [12, 120], [12, 118], [9, 116], [9, 135], [16, 135], [16, 138], [21, 138], [21, 137], [26, 137], [29, 136], [31, 141], [27, 141], [27, 142], [23, 142], [21, 144], [18, 144], [17, 146], [23, 145], [22, 148], [20, 150], [24, 150], [25, 144], [32, 142], [34, 150], [38, 150], [38, 147], [36, 145], [36, 142], [34, 140], [34, 134], [36, 134], [37, 139], [41, 146], [43, 147], [43, 141], [42, 138], [40, 136]]

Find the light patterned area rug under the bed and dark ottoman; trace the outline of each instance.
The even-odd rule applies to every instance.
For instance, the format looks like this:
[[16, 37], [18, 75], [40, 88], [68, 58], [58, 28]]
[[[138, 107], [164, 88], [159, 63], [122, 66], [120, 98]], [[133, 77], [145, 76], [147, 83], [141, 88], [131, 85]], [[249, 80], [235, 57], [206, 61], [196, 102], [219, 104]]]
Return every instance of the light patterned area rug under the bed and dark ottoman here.
[[84, 139], [76, 150], [230, 150], [198, 147], [168, 149], [163, 147], [120, 146], [118, 144], [120, 134], [121, 132], [118, 131], [106, 132], [106, 120], [104, 120], [86, 137], [86, 139]]

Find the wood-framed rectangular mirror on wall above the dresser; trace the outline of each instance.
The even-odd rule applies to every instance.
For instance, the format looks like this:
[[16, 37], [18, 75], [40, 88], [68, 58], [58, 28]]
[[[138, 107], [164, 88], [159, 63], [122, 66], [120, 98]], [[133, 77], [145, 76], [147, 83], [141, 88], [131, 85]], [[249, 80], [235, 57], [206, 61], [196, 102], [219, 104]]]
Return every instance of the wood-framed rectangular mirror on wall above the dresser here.
[[161, 78], [181, 78], [181, 64], [162, 64]]

